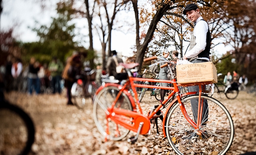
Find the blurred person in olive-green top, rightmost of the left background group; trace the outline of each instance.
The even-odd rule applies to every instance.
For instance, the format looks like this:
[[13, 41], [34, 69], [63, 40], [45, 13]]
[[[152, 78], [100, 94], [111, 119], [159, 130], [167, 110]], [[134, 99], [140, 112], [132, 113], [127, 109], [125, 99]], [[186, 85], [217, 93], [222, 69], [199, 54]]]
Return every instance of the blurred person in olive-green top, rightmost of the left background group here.
[[53, 57], [53, 60], [49, 63], [49, 71], [51, 72], [51, 86], [53, 87], [53, 94], [58, 92], [61, 93], [60, 80], [61, 73], [63, 70], [63, 65], [57, 59], [57, 57]]

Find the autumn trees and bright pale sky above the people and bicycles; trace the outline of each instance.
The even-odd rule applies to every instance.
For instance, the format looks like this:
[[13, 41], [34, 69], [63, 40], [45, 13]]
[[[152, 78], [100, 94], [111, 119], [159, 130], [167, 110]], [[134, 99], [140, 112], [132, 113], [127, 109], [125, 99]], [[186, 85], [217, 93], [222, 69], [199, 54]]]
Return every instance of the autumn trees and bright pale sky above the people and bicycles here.
[[[75, 50], [90, 53], [86, 59], [91, 67], [101, 65], [103, 69], [111, 50], [139, 62], [141, 68], [147, 67], [142, 64], [145, 57], [159, 55], [163, 49], [178, 50], [181, 57], [187, 51], [193, 28], [181, 11], [185, 3], [192, 1], [160, 2], [1, 0], [0, 65], [6, 65], [8, 55], [20, 59], [23, 68], [31, 56], [41, 65], [49, 64], [53, 56], [65, 64]], [[236, 70], [246, 74], [249, 83], [256, 77], [255, 3], [197, 3], [209, 23], [211, 59], [218, 73]]]

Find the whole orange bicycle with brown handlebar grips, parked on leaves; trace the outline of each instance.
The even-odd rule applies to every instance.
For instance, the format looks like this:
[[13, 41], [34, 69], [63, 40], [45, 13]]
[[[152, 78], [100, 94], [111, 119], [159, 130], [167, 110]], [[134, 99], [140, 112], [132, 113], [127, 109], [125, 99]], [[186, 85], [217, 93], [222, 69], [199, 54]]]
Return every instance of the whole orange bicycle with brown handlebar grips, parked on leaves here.
[[[160, 58], [152, 57], [144, 61], [152, 59]], [[234, 124], [228, 110], [216, 99], [204, 95], [203, 89], [199, 89], [199, 94], [197, 92], [183, 93], [179, 90], [179, 87], [195, 85], [202, 88], [210, 82], [178, 84], [174, 72], [176, 64], [166, 60], [160, 62], [167, 63], [172, 77], [171, 81], [133, 78], [131, 69], [138, 64], [122, 64], [129, 78], [121, 84], [103, 84], [97, 90], [94, 95], [93, 116], [99, 132], [106, 137], [106, 140], [122, 140], [131, 130], [137, 134], [129, 138], [128, 142], [135, 143], [139, 134], [145, 135], [149, 132], [150, 118], [153, 118], [159, 110], [167, 107], [162, 130], [170, 146], [178, 155], [188, 155], [191, 152], [196, 155], [224, 155], [234, 137]], [[135, 84], [134, 81], [172, 83], [173, 87]], [[144, 112], [146, 115], [143, 114], [140, 107], [136, 87], [160, 88], [172, 90], [172, 93], [148, 116], [147, 112]], [[135, 101], [129, 93], [130, 88], [134, 92]], [[172, 96], [175, 98], [167, 104]], [[191, 106], [195, 100], [198, 102], [197, 109]], [[207, 108], [204, 109], [204, 107]]]

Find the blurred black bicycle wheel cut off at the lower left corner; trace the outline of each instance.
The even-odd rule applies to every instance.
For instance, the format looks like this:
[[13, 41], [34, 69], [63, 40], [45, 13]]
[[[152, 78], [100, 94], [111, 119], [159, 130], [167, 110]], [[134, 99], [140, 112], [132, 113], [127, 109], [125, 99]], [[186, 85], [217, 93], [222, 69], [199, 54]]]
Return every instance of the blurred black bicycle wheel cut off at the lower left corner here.
[[[17, 105], [0, 102], [1, 154], [27, 155], [34, 143], [34, 123]], [[20, 126], [19, 126], [20, 125]], [[7, 145], [7, 146], [6, 146]]]

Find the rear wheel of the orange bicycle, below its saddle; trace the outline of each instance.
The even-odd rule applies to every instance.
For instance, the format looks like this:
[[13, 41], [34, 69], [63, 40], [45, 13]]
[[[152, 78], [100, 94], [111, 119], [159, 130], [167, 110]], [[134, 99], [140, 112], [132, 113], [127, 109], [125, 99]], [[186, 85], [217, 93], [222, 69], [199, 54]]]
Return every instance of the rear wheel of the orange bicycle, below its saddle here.
[[[122, 127], [119, 124], [116, 124], [114, 121], [110, 119], [106, 120], [106, 112], [107, 108], [112, 105], [114, 100], [116, 99], [116, 95], [119, 92], [119, 88], [115, 86], [106, 86], [102, 90], [100, 90], [96, 96], [94, 96], [93, 102], [93, 117], [94, 122], [96, 124], [99, 132], [105, 136], [109, 140], [122, 140], [130, 130]], [[127, 92], [128, 93], [128, 92]], [[132, 105], [130, 99], [133, 99], [132, 96], [128, 96], [129, 94], [122, 93], [116, 103], [116, 108], [119, 107], [121, 109], [126, 109], [132, 111]], [[108, 123], [109, 131], [106, 131]], [[117, 132], [118, 130], [118, 132]], [[118, 133], [118, 134], [117, 134]]]

